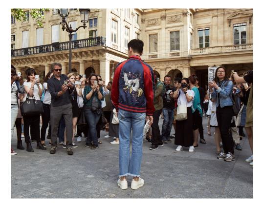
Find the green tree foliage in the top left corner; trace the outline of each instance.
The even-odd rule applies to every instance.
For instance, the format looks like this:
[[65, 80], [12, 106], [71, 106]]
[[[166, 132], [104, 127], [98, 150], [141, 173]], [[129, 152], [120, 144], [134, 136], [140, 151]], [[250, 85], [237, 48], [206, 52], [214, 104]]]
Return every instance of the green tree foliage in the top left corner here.
[[[31, 17], [37, 21], [38, 27], [42, 27], [42, 21], [44, 20], [44, 11], [49, 11], [49, 9], [30, 9], [29, 14]], [[18, 21], [26, 21], [27, 16], [23, 9], [11, 9], [11, 14]]]

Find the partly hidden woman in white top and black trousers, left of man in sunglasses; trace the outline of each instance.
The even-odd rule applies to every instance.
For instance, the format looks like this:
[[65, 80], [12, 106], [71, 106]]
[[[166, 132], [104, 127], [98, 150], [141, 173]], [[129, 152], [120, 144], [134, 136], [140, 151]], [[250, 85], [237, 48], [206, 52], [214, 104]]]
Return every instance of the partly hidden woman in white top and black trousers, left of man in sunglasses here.
[[46, 147], [45, 145], [45, 136], [46, 136], [46, 130], [48, 127], [48, 136], [47, 138], [50, 139], [50, 133], [51, 133], [51, 127], [50, 127], [50, 103], [51, 103], [51, 95], [49, 93], [49, 90], [47, 89], [47, 81], [53, 76], [53, 73], [50, 71], [47, 73], [47, 75], [44, 78], [43, 83], [43, 90], [44, 93], [42, 94], [44, 97], [43, 99], [43, 114], [42, 116], [42, 127], [41, 127], [41, 144]]

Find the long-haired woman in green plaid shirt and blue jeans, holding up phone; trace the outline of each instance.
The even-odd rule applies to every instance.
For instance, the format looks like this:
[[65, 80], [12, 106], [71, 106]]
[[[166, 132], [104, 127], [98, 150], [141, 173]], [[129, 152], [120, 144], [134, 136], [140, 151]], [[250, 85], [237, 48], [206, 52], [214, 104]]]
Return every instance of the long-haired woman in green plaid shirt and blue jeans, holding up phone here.
[[103, 89], [98, 84], [98, 78], [95, 74], [91, 74], [88, 85], [86, 85], [84, 89], [84, 110], [89, 127], [86, 146], [91, 149], [98, 148], [96, 124], [102, 114], [101, 100], [103, 99]]

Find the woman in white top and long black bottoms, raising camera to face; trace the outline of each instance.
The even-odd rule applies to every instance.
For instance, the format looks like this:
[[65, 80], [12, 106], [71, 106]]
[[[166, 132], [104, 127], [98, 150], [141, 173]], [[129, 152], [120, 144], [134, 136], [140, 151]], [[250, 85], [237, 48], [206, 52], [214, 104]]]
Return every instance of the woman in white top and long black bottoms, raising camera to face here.
[[187, 106], [187, 119], [182, 121], [177, 121], [175, 128], [175, 145], [178, 145], [176, 151], [181, 151], [183, 146], [189, 147], [191, 152], [194, 142], [193, 136], [193, 113], [192, 113], [192, 103], [195, 96], [193, 90], [188, 89], [189, 80], [183, 78], [181, 84], [178, 85], [177, 90], [174, 92], [174, 98], [178, 98], [177, 105]]

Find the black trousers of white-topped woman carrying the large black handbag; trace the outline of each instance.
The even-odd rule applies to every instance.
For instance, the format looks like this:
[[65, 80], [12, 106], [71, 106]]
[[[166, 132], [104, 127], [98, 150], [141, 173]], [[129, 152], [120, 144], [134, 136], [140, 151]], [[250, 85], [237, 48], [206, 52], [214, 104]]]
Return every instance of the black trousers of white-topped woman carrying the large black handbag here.
[[31, 138], [34, 138], [37, 142], [40, 142], [40, 115], [23, 116], [23, 120], [25, 142], [30, 143], [29, 126], [31, 131]]

